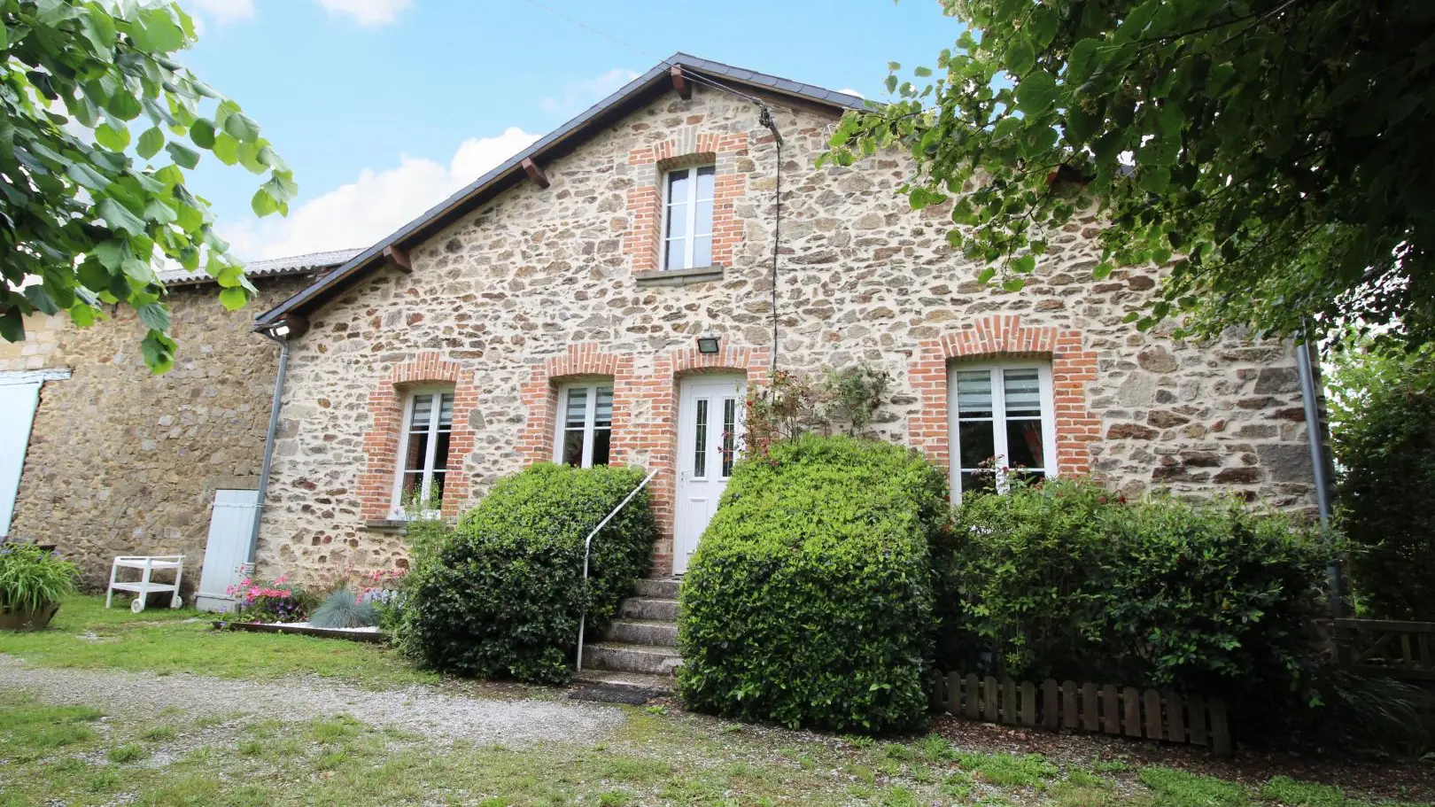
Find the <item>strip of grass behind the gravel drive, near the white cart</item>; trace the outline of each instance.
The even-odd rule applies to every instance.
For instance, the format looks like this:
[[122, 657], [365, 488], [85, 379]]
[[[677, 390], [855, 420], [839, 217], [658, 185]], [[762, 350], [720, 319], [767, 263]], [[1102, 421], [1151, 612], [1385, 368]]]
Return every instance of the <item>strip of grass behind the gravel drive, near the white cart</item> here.
[[215, 678], [273, 679], [321, 675], [389, 688], [433, 684], [382, 645], [311, 636], [215, 633], [215, 615], [194, 609], [148, 607], [131, 613], [115, 597], [105, 609], [102, 596], [72, 596], [60, 606], [49, 630], [0, 633], [0, 653], [42, 666], [123, 669], [166, 675], [192, 672]]

